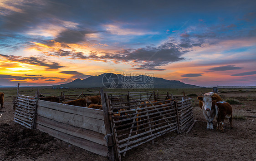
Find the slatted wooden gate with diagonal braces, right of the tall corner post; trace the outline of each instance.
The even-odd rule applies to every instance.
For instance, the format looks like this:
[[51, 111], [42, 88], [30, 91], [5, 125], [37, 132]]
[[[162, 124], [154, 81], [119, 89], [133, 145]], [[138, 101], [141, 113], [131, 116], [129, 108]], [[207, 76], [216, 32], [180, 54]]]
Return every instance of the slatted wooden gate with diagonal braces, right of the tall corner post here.
[[[127, 106], [129, 104], [129, 106]], [[178, 130], [177, 109], [174, 100], [112, 102], [109, 99], [110, 118], [118, 159], [121, 154], [152, 141], [168, 132]]]

